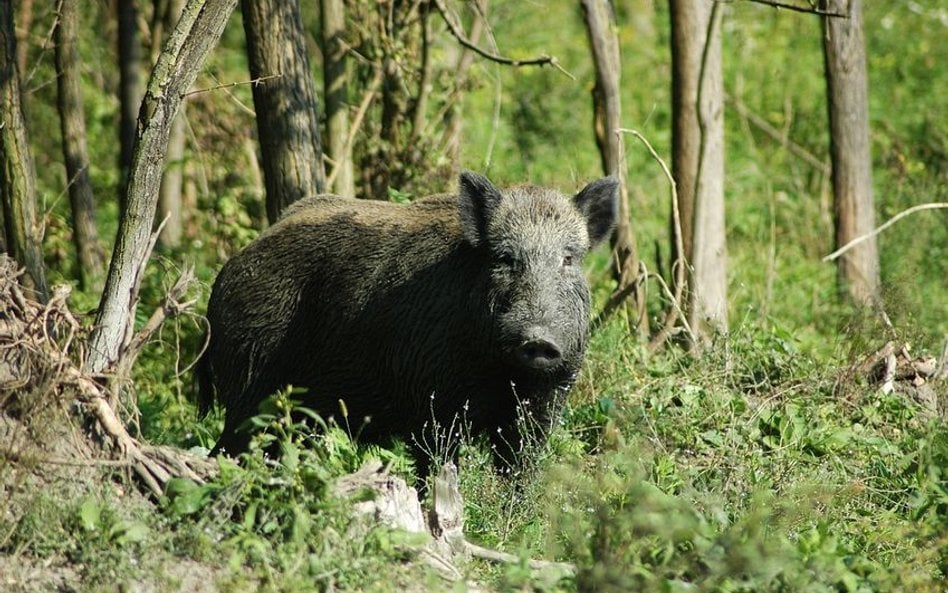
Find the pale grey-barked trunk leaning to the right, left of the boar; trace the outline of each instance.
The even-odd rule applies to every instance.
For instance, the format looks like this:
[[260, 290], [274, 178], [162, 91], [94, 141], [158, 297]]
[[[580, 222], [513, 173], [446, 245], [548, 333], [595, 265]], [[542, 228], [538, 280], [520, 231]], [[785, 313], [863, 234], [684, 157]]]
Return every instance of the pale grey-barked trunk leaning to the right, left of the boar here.
[[152, 70], [138, 117], [126, 209], [119, 220], [105, 292], [89, 338], [86, 372], [102, 373], [118, 359], [131, 337], [171, 126], [182, 93], [194, 82], [236, 4], [237, 0], [188, 0]]

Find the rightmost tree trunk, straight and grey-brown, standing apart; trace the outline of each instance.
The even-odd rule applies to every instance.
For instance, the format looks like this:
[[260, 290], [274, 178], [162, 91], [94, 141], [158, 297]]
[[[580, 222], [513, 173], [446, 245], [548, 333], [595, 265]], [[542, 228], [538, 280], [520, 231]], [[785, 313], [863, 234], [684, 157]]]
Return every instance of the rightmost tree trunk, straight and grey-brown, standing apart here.
[[[875, 227], [862, 1], [822, 2], [828, 12], [845, 13], [847, 5], [849, 18], [823, 17], [837, 248]], [[838, 262], [840, 292], [857, 304], [876, 304], [880, 279], [875, 238], [856, 245]]]

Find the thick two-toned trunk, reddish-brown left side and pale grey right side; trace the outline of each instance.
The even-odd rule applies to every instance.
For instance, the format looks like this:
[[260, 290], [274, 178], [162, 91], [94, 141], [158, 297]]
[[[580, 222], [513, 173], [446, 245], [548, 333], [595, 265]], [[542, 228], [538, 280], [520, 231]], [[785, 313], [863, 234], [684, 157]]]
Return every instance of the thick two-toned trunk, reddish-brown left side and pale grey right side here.
[[684, 248], [672, 261], [689, 264], [688, 321], [698, 341], [709, 328], [727, 330], [721, 16], [712, 0], [671, 0], [672, 166]]

